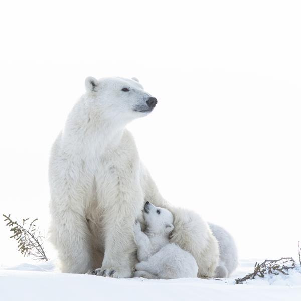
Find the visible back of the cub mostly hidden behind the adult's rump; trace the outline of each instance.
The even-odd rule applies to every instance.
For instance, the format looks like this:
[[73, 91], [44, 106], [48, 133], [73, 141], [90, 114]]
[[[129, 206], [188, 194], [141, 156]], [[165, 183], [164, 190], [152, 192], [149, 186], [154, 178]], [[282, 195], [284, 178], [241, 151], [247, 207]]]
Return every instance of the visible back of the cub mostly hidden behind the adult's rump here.
[[238, 265], [237, 248], [233, 237], [222, 227], [209, 223], [210, 229], [218, 241], [220, 260], [215, 269], [215, 277], [227, 278]]

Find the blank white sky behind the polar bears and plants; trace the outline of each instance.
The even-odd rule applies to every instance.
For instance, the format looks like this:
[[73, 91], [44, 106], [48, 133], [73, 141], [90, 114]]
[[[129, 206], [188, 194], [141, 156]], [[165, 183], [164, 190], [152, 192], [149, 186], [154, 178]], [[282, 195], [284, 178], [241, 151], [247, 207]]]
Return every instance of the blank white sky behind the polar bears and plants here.
[[[297, 257], [300, 9], [3, 2], [0, 213], [38, 217], [47, 230], [50, 147], [85, 78], [135, 76], [158, 105], [129, 128], [164, 197], [228, 229], [241, 258]], [[24, 260], [8, 237], [0, 220], [0, 264]]]

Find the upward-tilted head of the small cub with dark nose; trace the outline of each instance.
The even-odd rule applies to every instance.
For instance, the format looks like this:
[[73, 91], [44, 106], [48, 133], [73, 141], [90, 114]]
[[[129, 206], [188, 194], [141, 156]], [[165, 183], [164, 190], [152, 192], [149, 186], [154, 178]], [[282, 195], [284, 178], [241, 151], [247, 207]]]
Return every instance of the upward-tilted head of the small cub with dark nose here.
[[146, 202], [143, 210], [144, 220], [147, 231], [157, 235], [169, 235], [174, 229], [174, 217], [170, 211], [165, 208], [154, 206]]

